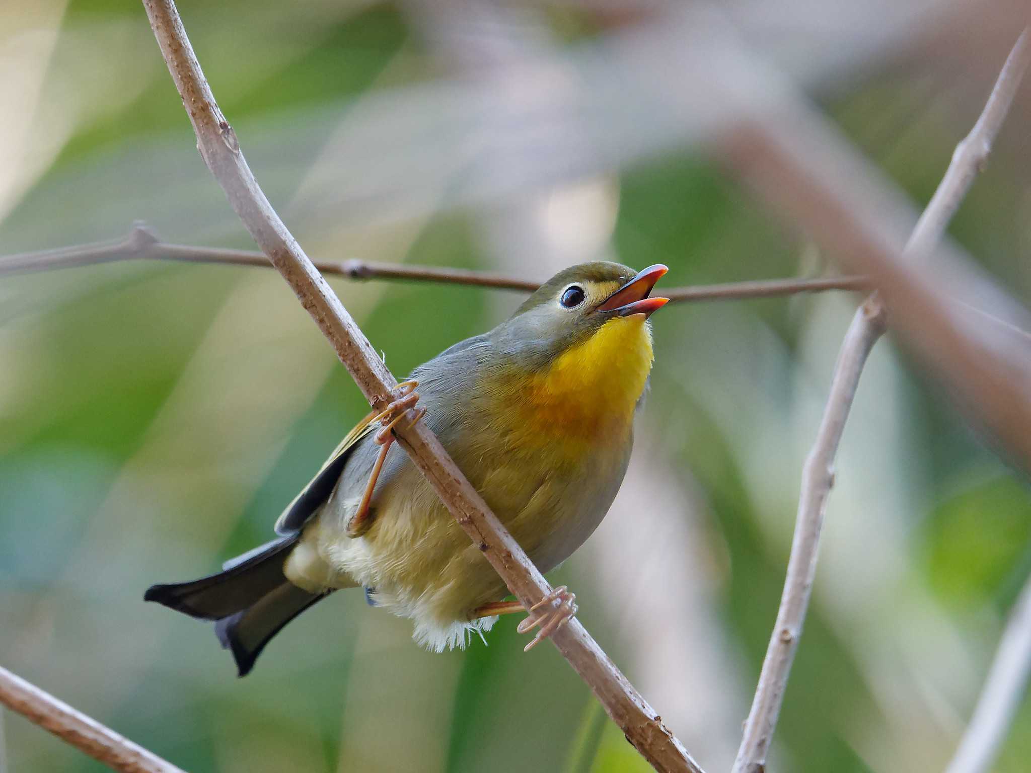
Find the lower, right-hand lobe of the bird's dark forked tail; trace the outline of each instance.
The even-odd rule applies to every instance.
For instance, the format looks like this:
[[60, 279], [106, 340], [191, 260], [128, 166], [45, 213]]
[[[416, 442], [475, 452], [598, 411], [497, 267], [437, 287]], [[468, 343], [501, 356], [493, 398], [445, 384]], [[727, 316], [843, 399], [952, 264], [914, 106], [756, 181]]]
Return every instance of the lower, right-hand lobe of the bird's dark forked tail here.
[[284, 626], [326, 596], [309, 594], [284, 579], [246, 609], [215, 623], [214, 633], [222, 646], [232, 650], [240, 676], [251, 673], [261, 650]]

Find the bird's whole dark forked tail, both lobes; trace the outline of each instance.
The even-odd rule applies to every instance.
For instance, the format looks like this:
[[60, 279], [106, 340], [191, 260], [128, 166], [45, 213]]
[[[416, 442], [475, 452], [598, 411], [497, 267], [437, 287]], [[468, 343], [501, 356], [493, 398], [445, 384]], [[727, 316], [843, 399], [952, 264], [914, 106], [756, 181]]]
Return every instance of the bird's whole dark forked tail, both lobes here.
[[324, 595], [292, 584], [282, 565], [298, 534], [273, 540], [226, 564], [224, 571], [193, 582], [151, 585], [144, 601], [217, 620], [215, 634], [233, 651], [240, 676], [279, 630]]

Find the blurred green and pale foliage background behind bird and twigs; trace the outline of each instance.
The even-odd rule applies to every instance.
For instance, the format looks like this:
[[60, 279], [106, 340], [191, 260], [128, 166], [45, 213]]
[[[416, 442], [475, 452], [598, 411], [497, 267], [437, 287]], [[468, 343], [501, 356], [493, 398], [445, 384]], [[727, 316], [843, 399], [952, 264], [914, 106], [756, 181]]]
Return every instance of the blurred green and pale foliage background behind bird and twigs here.
[[[659, 119], [620, 113], [640, 97], [619, 85], [610, 117], [646, 140], [625, 163], [598, 142], [587, 170], [532, 153], [561, 122], [476, 109], [477, 79], [495, 68], [544, 55], [590, 66], [610, 36], [654, 23], [590, 5], [180, 10], [253, 169], [312, 257], [544, 278], [600, 256], [666, 263], [669, 285], [823, 271], [804, 235], [653, 132]], [[976, 58], [866, 60], [814, 96], [925, 202], [1010, 42]], [[559, 65], [524, 75], [507, 96], [531, 108], [534, 89], [596, 86], [563, 81]], [[1028, 103], [1025, 89], [953, 228], [1025, 301]], [[605, 132], [599, 121], [592, 140]], [[529, 139], [496, 139], [510, 134]], [[115, 238], [134, 220], [172, 242], [251, 247], [194, 144], [139, 4], [0, 7], [0, 254]], [[331, 283], [399, 376], [521, 298]], [[709, 771], [736, 750], [854, 304], [836, 294], [657, 314], [631, 472], [551, 578], [576, 591], [589, 630]], [[210, 627], [142, 602], [152, 582], [266, 540], [364, 411], [272, 271], [125, 262], [0, 277], [0, 663], [187, 770], [647, 770], [554, 648], [521, 651], [514, 619], [489, 646], [436, 656], [407, 621], [339, 594], [239, 680]], [[1024, 481], [887, 339], [845, 431], [771, 769], [941, 769], [1029, 546]], [[1029, 755], [1024, 706], [997, 770], [1027, 770]], [[100, 769], [0, 713], [0, 770]]]

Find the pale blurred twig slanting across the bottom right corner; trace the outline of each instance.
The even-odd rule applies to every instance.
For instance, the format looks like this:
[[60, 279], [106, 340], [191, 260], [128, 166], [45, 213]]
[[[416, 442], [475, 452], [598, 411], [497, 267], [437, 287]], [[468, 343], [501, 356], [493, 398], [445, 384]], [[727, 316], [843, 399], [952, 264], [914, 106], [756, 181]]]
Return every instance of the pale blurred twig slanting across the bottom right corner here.
[[1031, 676], [1031, 578], [1021, 591], [977, 699], [970, 725], [945, 773], [992, 767]]

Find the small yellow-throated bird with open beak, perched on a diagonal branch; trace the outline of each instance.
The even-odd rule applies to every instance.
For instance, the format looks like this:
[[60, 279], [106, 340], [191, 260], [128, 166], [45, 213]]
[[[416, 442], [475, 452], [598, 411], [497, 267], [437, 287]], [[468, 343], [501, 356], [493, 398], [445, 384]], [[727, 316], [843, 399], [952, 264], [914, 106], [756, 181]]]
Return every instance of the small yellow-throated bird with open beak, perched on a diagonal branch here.
[[[623, 482], [652, 370], [648, 316], [668, 300], [648, 294], [667, 270], [594, 262], [560, 272], [494, 330], [417, 368], [387, 410], [347, 433], [279, 516], [275, 539], [219, 574], [152, 585], [143, 598], [215, 620], [240, 676], [284, 626], [339, 589], [364, 587], [438, 652], [523, 611], [503, 601], [507, 589], [478, 546], [393, 448], [392, 430], [406, 416], [424, 421], [548, 571], [591, 535]], [[521, 633], [540, 625], [527, 648], [576, 611], [565, 587], [545, 604], [520, 624]]]

